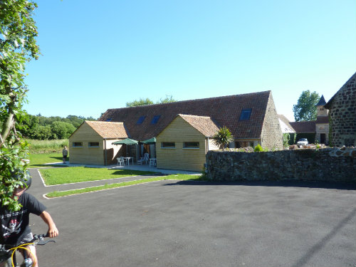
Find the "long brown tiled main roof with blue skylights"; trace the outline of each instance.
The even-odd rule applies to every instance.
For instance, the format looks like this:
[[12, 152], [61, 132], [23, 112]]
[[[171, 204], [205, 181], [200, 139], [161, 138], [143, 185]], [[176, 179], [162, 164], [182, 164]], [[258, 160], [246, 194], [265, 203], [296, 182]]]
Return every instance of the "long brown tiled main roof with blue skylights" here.
[[[211, 117], [217, 124], [226, 126], [235, 138], [260, 138], [266, 107], [271, 91], [229, 95], [219, 98], [178, 101], [155, 105], [107, 110], [100, 121], [124, 122], [134, 140], [156, 137], [178, 114]], [[249, 120], [239, 120], [243, 109], [251, 108]], [[157, 123], [152, 119], [160, 116]], [[142, 123], [137, 121], [142, 117]]]

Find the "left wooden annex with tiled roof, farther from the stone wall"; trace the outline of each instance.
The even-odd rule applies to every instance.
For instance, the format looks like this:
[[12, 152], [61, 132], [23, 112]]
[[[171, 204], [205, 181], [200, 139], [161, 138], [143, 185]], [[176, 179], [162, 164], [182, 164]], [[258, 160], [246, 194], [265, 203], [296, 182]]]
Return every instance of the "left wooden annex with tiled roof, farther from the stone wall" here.
[[69, 137], [69, 162], [80, 164], [115, 164], [124, 154], [125, 145], [113, 142], [127, 138], [122, 122], [85, 120]]

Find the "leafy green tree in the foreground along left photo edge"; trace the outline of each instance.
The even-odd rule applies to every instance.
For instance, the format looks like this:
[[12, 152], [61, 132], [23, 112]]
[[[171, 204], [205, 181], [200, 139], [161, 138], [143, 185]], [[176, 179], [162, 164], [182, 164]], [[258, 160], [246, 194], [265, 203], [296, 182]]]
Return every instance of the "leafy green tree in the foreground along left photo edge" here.
[[25, 63], [39, 55], [32, 18], [37, 4], [32, 0], [0, 3], [0, 201], [3, 206], [18, 210], [19, 203], [11, 197], [14, 188], [27, 178], [22, 159], [28, 157], [28, 144], [21, 140], [18, 130], [26, 117], [22, 109], [27, 92]]

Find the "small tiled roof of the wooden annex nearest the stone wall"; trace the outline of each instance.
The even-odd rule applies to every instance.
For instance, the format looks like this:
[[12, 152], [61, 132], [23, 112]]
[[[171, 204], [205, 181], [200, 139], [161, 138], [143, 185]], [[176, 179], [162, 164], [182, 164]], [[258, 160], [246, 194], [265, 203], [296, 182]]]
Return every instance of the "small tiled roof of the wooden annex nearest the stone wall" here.
[[192, 125], [206, 137], [213, 137], [219, 131], [219, 126], [211, 120], [211, 117], [178, 114], [183, 120]]

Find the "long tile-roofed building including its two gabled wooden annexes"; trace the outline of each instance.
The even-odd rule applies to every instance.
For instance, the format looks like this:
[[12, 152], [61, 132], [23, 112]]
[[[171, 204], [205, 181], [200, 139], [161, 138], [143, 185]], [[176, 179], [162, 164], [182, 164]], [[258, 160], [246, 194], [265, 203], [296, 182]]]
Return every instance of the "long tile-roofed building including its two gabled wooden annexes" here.
[[[100, 122], [103, 124], [100, 125]], [[156, 137], [155, 145], [140, 143], [136, 146], [135, 159], [149, 152], [150, 157], [157, 158], [159, 168], [201, 171], [206, 152], [217, 149], [211, 137], [222, 126], [226, 126], [234, 136], [230, 148], [261, 144], [269, 149], [283, 149], [281, 127], [271, 91], [109, 109], [99, 118], [98, 125], [85, 123], [88, 125], [80, 126], [70, 137], [70, 144], [86, 140], [83, 141], [86, 147], [83, 145], [80, 152], [78, 147], [71, 145], [70, 162], [112, 162], [116, 150], [113, 147], [112, 153], [108, 153], [110, 144], [105, 140], [109, 137], [112, 138], [111, 143], [127, 136], [139, 142]], [[100, 133], [100, 127], [115, 123], [121, 123], [120, 135]], [[90, 135], [103, 142], [100, 145], [102, 156], [100, 152], [92, 153], [93, 150], [88, 147], [93, 139]]]

